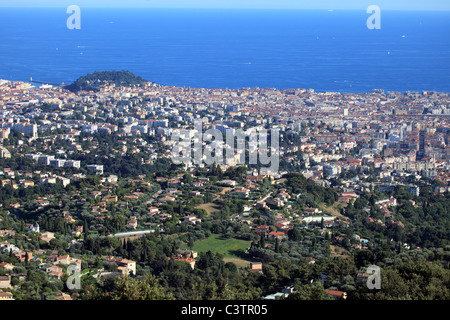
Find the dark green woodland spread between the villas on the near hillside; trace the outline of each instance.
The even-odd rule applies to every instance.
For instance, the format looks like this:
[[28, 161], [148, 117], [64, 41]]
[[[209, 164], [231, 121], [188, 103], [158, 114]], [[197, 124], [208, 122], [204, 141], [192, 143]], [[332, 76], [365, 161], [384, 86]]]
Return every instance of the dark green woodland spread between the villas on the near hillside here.
[[[153, 166], [140, 166], [138, 157], [135, 160], [136, 172], [143, 172], [147, 177], [156, 175], [170, 177], [179, 172], [179, 168], [172, 167], [163, 158], [158, 159]], [[142, 167], [146, 168], [142, 169]], [[115, 168], [119, 171], [114, 171]], [[114, 163], [108, 167], [108, 170], [111, 173], [121, 172], [120, 168], [121, 163]], [[134, 170], [134, 167], [131, 170]], [[134, 176], [136, 172], [130, 171], [124, 175]], [[214, 181], [224, 178], [240, 181], [239, 179], [242, 179], [245, 173], [246, 168], [222, 172], [217, 166], [205, 172], [204, 175], [211, 181], [210, 185], [202, 189], [202, 191], [208, 190], [210, 194], [207, 201], [212, 200], [212, 194], [218, 191], [213, 190]], [[320, 187], [302, 175], [288, 174], [284, 177], [287, 178], [285, 186], [288, 193], [293, 196], [301, 194], [293, 201], [294, 207], [318, 207], [321, 203], [332, 205], [337, 200], [337, 193], [333, 189]], [[195, 208], [200, 203], [199, 200], [189, 197], [189, 192], [193, 190], [190, 186], [192, 177], [185, 174], [183, 181], [186, 184], [181, 188], [183, 194], [178, 197], [178, 200], [160, 207], [163, 212], [173, 215], [162, 224], [165, 234], [156, 232], [123, 243], [118, 239], [106, 237], [109, 233], [124, 231], [126, 217], [129, 215], [137, 215], [139, 219], [147, 217], [145, 202], [156, 188], [147, 190], [149, 194], [141, 200], [130, 201], [128, 208], [109, 205], [109, 217], [103, 220], [103, 229], [94, 227], [97, 222], [95, 217], [91, 216], [88, 204], [79, 205], [58, 197], [58, 201], [61, 200], [60, 204], [54, 203], [43, 211], [35, 211], [34, 215], [28, 216], [30, 219], [36, 218], [42, 229], [55, 232], [57, 239], [46, 244], [40, 242], [35, 235], [29, 235], [31, 241], [27, 243], [24, 243], [25, 241], [20, 237], [10, 239], [10, 242], [17, 243], [30, 251], [45, 248], [56, 249], [59, 253], [70, 252], [81, 255], [85, 258], [84, 260], [90, 261], [90, 266], [104, 267], [105, 270], [110, 271], [115, 270], [114, 265], [100, 261], [99, 256], [119, 256], [137, 262], [137, 274], [129, 278], [98, 282], [90, 276], [83, 277], [83, 289], [79, 292], [83, 299], [258, 299], [280, 291], [288, 285], [294, 285], [296, 288], [296, 293], [290, 295], [290, 299], [327, 299], [324, 288], [346, 291], [350, 299], [448, 298], [448, 262], [447, 265], [441, 264], [441, 261], [450, 260], [448, 243], [450, 203], [447, 197], [435, 196], [430, 192], [424, 192], [420, 197], [413, 197], [402, 188], [389, 194], [398, 199], [399, 205], [392, 210], [394, 217], [404, 222], [403, 229], [389, 223], [385, 226], [366, 223], [365, 218], [369, 216], [383, 218], [375, 202], [384, 195], [375, 192], [361, 193], [358, 200], [342, 212], [352, 219], [349, 228], [333, 229], [331, 236], [327, 232], [320, 232], [320, 228], [306, 228], [303, 225], [294, 224], [295, 228], [287, 234], [288, 239], [268, 240], [257, 236], [247, 224], [231, 219], [243, 211], [246, 200], [225, 195], [218, 212], [206, 214], [203, 209]], [[88, 190], [95, 189], [98, 185], [99, 177], [90, 176], [75, 182], [73, 187], [82, 189], [82, 197], [86, 196], [89, 202]], [[263, 185], [265, 192], [277, 188], [266, 182], [263, 182]], [[58, 187], [46, 186], [45, 188]], [[135, 186], [131, 182], [121, 178], [112, 192], [123, 195], [134, 189]], [[66, 191], [60, 190], [59, 193], [64, 194]], [[7, 192], [19, 191], [2, 190], [1, 192], [3, 193], [0, 193], [0, 196], [3, 194], [6, 201], [7, 195], [10, 195]], [[57, 189], [42, 190], [42, 192], [58, 194]], [[18, 196], [28, 199], [26, 193]], [[416, 201], [416, 204], [409, 200]], [[73, 239], [70, 235], [73, 227], [69, 228], [64, 223], [63, 217], [57, 213], [58, 209], [63, 208], [70, 209], [72, 214], [78, 214], [78, 218], [81, 219], [85, 231], [82, 244], [69, 246]], [[53, 209], [55, 210], [52, 211]], [[181, 217], [191, 213], [201, 216], [202, 223], [193, 226], [179, 223]], [[252, 211], [251, 213], [256, 224], [268, 224], [274, 228], [274, 220], [270, 212]], [[19, 223], [19, 218], [14, 215], [8, 216], [4, 213], [2, 217], [0, 229], [13, 229], [19, 232], [25, 230], [22, 218]], [[157, 217], [145, 219], [148, 222], [161, 223]], [[320, 227], [320, 224], [318, 226]], [[248, 252], [242, 251], [242, 257], [263, 261], [263, 273], [251, 273], [246, 269], [238, 268], [233, 263], [225, 263], [220, 254], [212, 252], [201, 252], [194, 270], [187, 263], [174, 261], [173, 257], [182, 244], [187, 243], [189, 247], [192, 247], [195, 241], [204, 239], [212, 233], [228, 238], [250, 240], [250, 249]], [[351, 243], [355, 243], [352, 235], [355, 233], [368, 238], [370, 246], [363, 250], [352, 249]], [[339, 243], [339, 246], [348, 250], [347, 257], [331, 255], [330, 245], [337, 245], [334, 242], [334, 237], [337, 235], [345, 238], [345, 242]], [[403, 246], [404, 242], [420, 246], [422, 249], [406, 250]], [[314, 264], [310, 263], [311, 258], [315, 259]], [[4, 259], [13, 258], [2, 257], [2, 261], [5, 261]], [[364, 271], [371, 264], [383, 268], [383, 289], [378, 292], [368, 292], [364, 286], [356, 283], [356, 274]], [[29, 266], [24, 265], [25, 270], [28, 270]], [[412, 275], [409, 276], [407, 273]], [[40, 275], [42, 274], [39, 272], [33, 274], [32, 279], [39, 278]], [[46, 290], [51, 297], [53, 292], [50, 291], [51, 288], [61, 287], [60, 283], [55, 284], [53, 280], [50, 281], [45, 277], [36, 281], [38, 287], [23, 283], [23, 288], [29, 290], [29, 294], [23, 293], [24, 290], [21, 287], [22, 293], [18, 296], [37, 299], [38, 296], [40, 298], [43, 290]], [[50, 289], [45, 289], [47, 287]], [[420, 292], [419, 288], [425, 289]]]

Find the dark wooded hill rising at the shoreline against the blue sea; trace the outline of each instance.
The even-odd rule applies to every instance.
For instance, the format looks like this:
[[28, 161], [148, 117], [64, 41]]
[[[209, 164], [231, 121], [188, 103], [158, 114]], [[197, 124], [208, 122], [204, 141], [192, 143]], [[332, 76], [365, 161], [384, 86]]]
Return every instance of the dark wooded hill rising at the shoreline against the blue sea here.
[[65, 88], [72, 91], [99, 91], [101, 87], [108, 84], [119, 86], [132, 86], [148, 82], [130, 71], [95, 71], [78, 78], [74, 83]]

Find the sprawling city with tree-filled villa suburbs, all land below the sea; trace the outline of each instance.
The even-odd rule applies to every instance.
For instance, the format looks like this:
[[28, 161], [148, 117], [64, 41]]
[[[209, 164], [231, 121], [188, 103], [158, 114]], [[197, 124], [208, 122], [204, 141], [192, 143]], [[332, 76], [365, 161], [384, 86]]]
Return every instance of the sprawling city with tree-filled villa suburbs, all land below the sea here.
[[[448, 93], [100, 72], [0, 80], [0, 118], [0, 300], [450, 299]], [[196, 120], [278, 129], [278, 170], [175, 164]]]

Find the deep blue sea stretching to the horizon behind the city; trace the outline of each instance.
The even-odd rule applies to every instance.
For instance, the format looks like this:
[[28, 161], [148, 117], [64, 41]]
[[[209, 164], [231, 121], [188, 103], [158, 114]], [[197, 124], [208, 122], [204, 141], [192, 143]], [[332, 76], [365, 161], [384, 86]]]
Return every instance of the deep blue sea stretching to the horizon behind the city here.
[[[130, 70], [163, 85], [450, 92], [450, 12], [0, 9], [0, 78]], [[404, 36], [404, 37], [403, 37]]]

